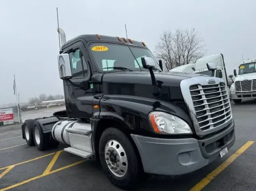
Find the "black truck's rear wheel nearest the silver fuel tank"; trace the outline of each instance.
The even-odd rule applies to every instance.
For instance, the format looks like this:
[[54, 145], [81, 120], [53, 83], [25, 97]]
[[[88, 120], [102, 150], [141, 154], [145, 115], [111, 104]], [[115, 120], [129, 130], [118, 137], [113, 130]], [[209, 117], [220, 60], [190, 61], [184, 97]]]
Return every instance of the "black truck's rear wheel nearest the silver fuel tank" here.
[[39, 151], [44, 151], [50, 147], [50, 133], [43, 133], [38, 122], [34, 122], [33, 138]]

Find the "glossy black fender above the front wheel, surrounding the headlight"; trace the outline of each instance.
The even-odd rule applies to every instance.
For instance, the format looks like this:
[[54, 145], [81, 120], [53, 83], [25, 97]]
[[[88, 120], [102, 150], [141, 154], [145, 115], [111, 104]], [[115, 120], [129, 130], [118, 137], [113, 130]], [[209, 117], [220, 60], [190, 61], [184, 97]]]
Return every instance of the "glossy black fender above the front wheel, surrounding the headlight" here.
[[[94, 113], [94, 119], [114, 119], [125, 124], [130, 133], [154, 134], [148, 120], [151, 111], [163, 111], [180, 117], [192, 127], [193, 123], [186, 112], [171, 102], [132, 95], [104, 95], [100, 100], [100, 112]], [[97, 122], [98, 123], [98, 122]], [[92, 126], [96, 130], [97, 123]]]

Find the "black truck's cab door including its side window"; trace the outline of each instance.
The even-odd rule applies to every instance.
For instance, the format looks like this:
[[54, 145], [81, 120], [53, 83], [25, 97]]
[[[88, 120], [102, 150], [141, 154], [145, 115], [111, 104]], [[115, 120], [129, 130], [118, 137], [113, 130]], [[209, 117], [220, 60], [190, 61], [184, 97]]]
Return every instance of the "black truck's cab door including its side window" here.
[[[72, 49], [72, 52], [69, 50]], [[69, 51], [72, 78], [64, 80], [66, 109], [69, 117], [89, 119], [93, 113], [93, 88], [88, 53], [83, 42], [78, 41], [63, 50]], [[81, 84], [83, 86], [81, 87]]]

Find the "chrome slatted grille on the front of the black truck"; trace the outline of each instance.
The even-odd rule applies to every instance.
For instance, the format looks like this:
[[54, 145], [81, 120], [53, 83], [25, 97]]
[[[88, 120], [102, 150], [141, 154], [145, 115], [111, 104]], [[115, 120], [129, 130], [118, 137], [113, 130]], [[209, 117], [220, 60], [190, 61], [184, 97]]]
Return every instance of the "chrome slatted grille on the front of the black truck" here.
[[217, 128], [231, 119], [231, 105], [225, 83], [191, 85], [189, 89], [201, 131]]

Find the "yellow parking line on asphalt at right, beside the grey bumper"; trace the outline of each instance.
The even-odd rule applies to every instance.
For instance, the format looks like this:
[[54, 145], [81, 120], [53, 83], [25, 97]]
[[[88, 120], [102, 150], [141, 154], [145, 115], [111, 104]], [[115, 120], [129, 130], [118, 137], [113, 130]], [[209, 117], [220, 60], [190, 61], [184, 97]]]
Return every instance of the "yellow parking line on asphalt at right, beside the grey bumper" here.
[[203, 189], [211, 180], [213, 180], [218, 174], [220, 174], [228, 165], [230, 165], [237, 157], [239, 157], [243, 152], [245, 152], [254, 141], [248, 141], [240, 149], [238, 149], [234, 154], [232, 154], [225, 162], [218, 166], [214, 171], [208, 174], [203, 180], [197, 183], [190, 191], [200, 191]]

